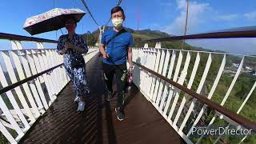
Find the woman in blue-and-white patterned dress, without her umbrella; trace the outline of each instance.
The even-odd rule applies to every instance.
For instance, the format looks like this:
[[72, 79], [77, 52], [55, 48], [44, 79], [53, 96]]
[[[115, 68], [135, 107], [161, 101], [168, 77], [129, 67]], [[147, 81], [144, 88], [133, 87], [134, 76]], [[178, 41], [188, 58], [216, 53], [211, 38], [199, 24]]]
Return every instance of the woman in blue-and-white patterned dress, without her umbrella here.
[[76, 92], [74, 102], [78, 102], [78, 111], [83, 111], [86, 105], [85, 97], [90, 90], [86, 78], [86, 62], [82, 54], [88, 52], [88, 47], [82, 36], [75, 34], [76, 26], [77, 23], [73, 18], [66, 20], [65, 27], [68, 34], [58, 39], [57, 52], [64, 54], [64, 67]]

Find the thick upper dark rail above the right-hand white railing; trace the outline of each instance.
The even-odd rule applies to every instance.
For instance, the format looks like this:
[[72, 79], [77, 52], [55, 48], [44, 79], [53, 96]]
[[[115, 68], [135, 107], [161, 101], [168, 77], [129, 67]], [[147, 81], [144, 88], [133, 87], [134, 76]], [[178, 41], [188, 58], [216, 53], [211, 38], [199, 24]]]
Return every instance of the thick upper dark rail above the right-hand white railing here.
[[205, 34], [190, 34], [184, 36], [172, 36], [166, 38], [154, 38], [142, 41], [140, 43], [147, 42], [168, 42], [168, 41], [177, 41], [184, 39], [208, 39], [208, 38], [256, 38], [256, 30], [241, 30], [241, 31], [222, 31], [214, 33], [205, 33]]

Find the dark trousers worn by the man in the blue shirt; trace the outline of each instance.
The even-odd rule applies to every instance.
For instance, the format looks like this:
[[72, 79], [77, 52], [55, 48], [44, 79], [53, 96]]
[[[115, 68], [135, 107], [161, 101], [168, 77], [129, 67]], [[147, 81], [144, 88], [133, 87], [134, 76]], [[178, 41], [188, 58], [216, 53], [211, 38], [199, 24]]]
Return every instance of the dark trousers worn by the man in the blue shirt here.
[[107, 90], [113, 92], [112, 82], [114, 74], [117, 81], [118, 88], [118, 98], [117, 107], [123, 108], [124, 103], [124, 90], [126, 89], [126, 79], [127, 79], [127, 67], [126, 64], [122, 65], [108, 65], [102, 62], [102, 70], [104, 74], [104, 82], [106, 83]]

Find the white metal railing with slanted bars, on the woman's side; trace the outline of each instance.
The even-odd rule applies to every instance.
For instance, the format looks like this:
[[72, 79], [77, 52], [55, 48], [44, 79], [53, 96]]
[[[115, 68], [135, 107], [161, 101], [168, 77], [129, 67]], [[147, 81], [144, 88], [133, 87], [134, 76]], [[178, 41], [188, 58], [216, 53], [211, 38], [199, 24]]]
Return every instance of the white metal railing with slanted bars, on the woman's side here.
[[[1, 89], [30, 78], [63, 62], [63, 56], [54, 49], [44, 49], [37, 42], [38, 49], [24, 50], [20, 41], [11, 41], [13, 50], [0, 51]], [[90, 47], [84, 55], [86, 62], [98, 53]], [[34, 122], [42, 116], [66, 86], [70, 78], [63, 66], [58, 66], [38, 78], [14, 87], [0, 96], [0, 131], [10, 142], [17, 143]], [[0, 90], [1, 90], [0, 89]]]

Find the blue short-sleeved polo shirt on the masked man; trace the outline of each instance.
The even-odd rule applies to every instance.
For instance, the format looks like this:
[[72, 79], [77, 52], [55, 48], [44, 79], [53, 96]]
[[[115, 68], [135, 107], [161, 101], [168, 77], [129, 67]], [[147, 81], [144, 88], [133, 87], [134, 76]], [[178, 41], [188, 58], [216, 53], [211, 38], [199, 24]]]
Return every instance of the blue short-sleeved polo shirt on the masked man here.
[[[111, 38], [114, 37], [114, 34], [118, 32], [113, 29], [106, 30], [102, 34], [102, 44], [106, 45]], [[129, 32], [124, 32], [119, 34], [118, 37], [112, 39], [107, 47], [106, 53], [110, 55], [110, 58], [103, 58], [103, 62], [109, 65], [122, 65], [126, 64], [128, 48], [134, 45], [134, 38]]]

